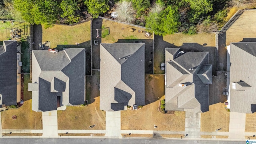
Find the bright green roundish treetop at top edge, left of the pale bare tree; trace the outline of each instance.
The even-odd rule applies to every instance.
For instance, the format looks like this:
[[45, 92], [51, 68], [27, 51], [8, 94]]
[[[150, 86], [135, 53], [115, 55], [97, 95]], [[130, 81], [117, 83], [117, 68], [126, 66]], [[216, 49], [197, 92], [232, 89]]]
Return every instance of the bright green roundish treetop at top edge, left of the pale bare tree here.
[[84, 4], [93, 18], [97, 18], [100, 14], [109, 10], [108, 0], [85, 0]]

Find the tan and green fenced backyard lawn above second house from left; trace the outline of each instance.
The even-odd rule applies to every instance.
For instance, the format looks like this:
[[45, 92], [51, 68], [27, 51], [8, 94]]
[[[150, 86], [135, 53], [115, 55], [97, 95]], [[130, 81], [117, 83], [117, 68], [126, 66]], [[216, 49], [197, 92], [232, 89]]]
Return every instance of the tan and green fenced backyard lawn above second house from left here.
[[[70, 45], [74, 45], [72, 48], [90, 47], [90, 38], [90, 21], [74, 26], [54, 25], [47, 29], [42, 26], [42, 42], [50, 41], [51, 48], [70, 48]], [[80, 46], [77, 46], [76, 42]]]

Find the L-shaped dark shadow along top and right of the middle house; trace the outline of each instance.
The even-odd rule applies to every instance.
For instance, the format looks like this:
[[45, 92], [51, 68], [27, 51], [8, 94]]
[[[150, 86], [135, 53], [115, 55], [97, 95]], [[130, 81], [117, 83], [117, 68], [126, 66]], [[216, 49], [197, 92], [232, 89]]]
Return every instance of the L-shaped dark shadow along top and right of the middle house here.
[[145, 44], [145, 74], [153, 74], [154, 48], [152, 39], [119, 39], [116, 43], [143, 43]]

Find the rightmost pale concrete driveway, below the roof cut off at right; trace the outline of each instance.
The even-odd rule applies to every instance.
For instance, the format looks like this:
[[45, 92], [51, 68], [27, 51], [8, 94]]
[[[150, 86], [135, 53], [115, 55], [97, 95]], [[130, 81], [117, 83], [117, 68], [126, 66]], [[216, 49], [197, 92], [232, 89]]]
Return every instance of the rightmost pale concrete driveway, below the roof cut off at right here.
[[244, 138], [246, 114], [230, 112], [228, 138]]

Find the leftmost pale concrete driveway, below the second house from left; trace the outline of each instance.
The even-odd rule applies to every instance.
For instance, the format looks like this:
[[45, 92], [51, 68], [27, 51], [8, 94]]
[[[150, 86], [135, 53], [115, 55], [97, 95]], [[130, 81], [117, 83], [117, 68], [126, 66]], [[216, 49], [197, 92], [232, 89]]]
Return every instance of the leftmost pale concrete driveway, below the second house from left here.
[[57, 110], [42, 112], [43, 136], [58, 136]]

